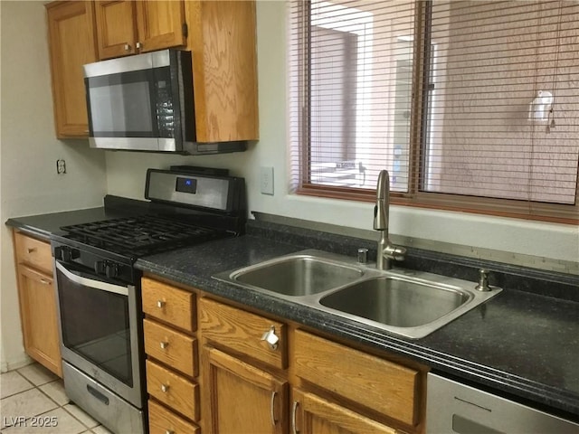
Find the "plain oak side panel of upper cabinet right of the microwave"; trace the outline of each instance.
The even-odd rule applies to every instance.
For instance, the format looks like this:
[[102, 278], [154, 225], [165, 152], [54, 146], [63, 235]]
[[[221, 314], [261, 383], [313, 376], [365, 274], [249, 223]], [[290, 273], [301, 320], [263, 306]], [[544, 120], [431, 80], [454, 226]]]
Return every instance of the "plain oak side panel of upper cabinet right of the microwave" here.
[[254, 1], [188, 1], [199, 142], [259, 138]]

